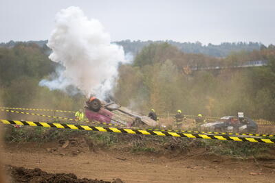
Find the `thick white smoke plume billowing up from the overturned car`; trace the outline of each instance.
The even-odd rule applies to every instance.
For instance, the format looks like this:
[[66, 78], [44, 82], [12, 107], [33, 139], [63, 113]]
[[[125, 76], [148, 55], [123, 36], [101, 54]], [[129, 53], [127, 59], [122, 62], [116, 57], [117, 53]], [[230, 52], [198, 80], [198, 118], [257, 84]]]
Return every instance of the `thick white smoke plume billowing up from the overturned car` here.
[[118, 64], [126, 62], [123, 48], [112, 44], [110, 35], [96, 19], [88, 19], [78, 7], [56, 14], [56, 25], [47, 43], [50, 60], [65, 70], [56, 80], [42, 80], [41, 86], [65, 90], [76, 86], [85, 95], [104, 99], [118, 75]]

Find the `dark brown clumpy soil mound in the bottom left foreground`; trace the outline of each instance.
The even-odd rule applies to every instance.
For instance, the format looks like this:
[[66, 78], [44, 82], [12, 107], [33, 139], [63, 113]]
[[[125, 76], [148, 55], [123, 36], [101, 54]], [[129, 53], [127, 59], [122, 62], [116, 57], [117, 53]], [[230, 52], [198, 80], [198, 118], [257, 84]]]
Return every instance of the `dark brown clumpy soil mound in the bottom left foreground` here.
[[103, 180], [91, 180], [87, 178], [79, 179], [73, 173], [47, 173], [41, 169], [25, 169], [23, 167], [13, 167], [8, 165], [8, 171], [12, 177], [12, 182], [65, 182], [65, 183], [123, 183], [120, 179], [113, 180], [113, 182]]

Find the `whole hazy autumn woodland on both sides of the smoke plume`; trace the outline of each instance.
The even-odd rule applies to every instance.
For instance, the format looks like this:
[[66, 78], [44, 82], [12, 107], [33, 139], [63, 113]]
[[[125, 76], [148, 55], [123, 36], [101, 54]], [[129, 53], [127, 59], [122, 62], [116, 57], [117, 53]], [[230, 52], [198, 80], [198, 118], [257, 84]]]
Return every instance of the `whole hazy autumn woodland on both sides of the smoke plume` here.
[[[249, 44], [248, 44], [249, 45]], [[39, 86], [54, 73], [50, 50], [34, 42], [0, 47], [0, 103], [5, 107], [83, 108], [85, 96], [68, 95]], [[235, 66], [268, 60], [267, 66], [214, 71], [186, 71], [188, 66]], [[221, 117], [244, 112], [256, 119], [275, 121], [275, 47], [231, 51], [226, 57], [184, 52], [169, 42], [153, 42], [122, 64], [113, 98], [123, 106], [147, 114], [203, 114]]]

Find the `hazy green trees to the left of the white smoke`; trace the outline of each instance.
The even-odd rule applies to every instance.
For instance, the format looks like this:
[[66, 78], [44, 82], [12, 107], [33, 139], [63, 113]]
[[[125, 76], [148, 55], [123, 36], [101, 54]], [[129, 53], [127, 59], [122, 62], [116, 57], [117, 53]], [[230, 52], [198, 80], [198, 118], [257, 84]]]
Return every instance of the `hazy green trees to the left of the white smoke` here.
[[19, 42], [0, 47], [0, 106], [77, 110], [83, 95], [74, 97], [39, 86], [54, 73], [57, 64], [48, 58], [47, 47]]

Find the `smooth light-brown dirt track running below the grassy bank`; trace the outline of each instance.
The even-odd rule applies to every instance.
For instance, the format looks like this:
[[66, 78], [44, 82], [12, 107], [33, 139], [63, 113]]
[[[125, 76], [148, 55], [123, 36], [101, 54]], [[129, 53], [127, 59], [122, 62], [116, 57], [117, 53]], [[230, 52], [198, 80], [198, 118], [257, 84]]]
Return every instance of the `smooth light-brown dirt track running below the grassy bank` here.
[[[274, 182], [275, 162], [243, 162], [214, 156], [180, 158], [85, 151], [49, 151], [52, 145], [10, 145], [5, 164], [40, 168], [48, 173], [75, 173], [79, 178], [124, 182]], [[47, 149], [48, 148], [48, 149]], [[196, 152], [194, 152], [196, 153]]]

